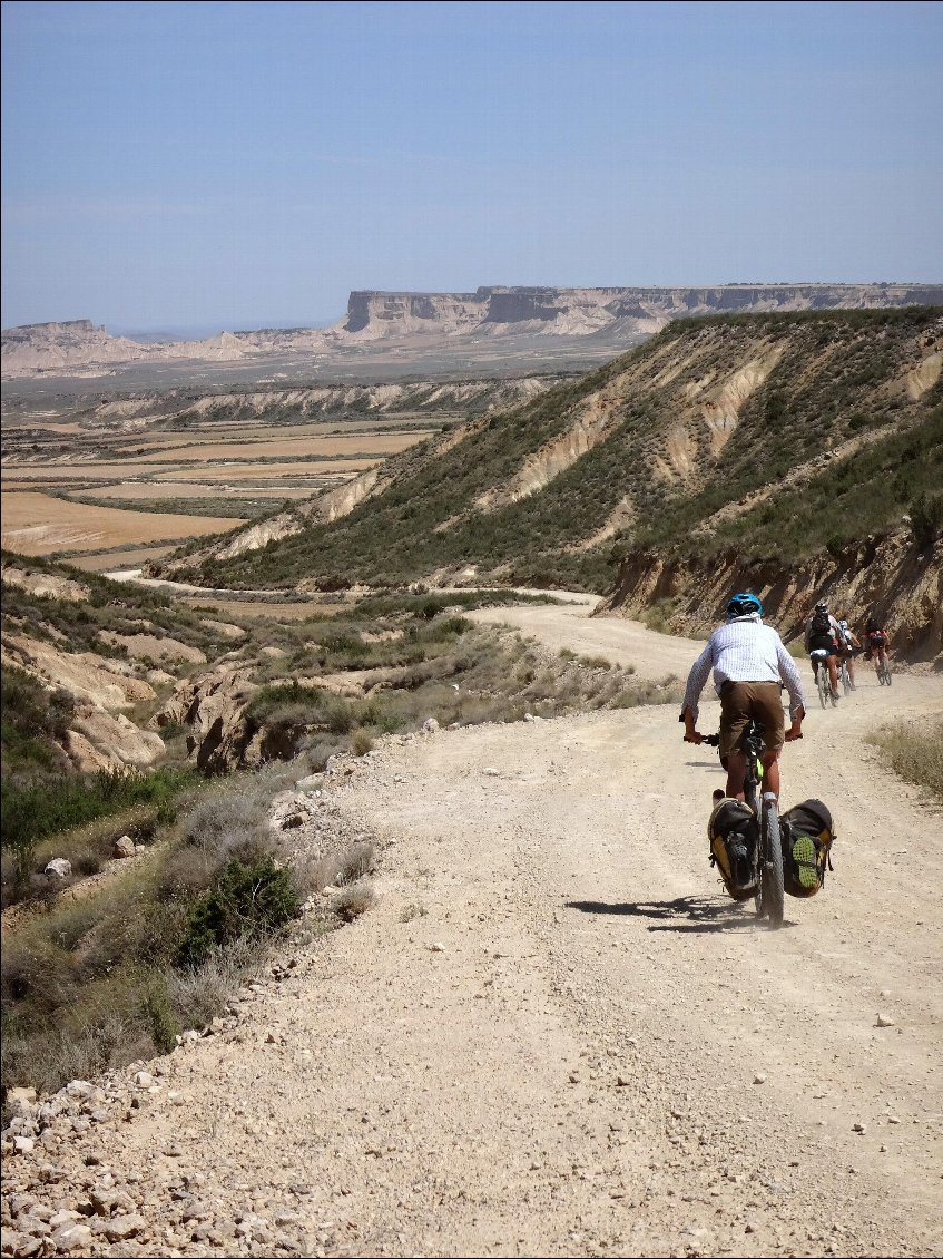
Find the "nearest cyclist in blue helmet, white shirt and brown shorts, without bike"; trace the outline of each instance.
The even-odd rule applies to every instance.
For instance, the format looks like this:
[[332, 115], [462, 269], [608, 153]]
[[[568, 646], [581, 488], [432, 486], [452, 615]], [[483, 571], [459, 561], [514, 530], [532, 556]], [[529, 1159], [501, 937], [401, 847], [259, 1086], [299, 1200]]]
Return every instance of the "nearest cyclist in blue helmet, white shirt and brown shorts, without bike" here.
[[[681, 719], [684, 742], [702, 743], [695, 726], [700, 692], [714, 670], [714, 689], [720, 696], [720, 763], [727, 769], [727, 794], [743, 799], [747, 758], [741, 739], [749, 719], [763, 728], [763, 782], [780, 798], [780, 753], [783, 742], [802, 738], [806, 715], [802, 679], [778, 633], [762, 621], [763, 604], [756, 594], [734, 594], [727, 604], [727, 623], [710, 635], [707, 647], [688, 675]], [[790, 692], [786, 730], [782, 686]]]

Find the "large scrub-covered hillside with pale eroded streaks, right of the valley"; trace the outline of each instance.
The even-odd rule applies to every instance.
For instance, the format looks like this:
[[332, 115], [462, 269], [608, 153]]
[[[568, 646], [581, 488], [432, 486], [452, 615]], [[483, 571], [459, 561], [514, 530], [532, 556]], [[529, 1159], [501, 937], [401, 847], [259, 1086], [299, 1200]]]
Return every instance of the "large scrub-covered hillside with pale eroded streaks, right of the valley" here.
[[[669, 611], [698, 628], [719, 585], [752, 575], [800, 617], [845, 574], [849, 614], [876, 601], [904, 617], [912, 650], [935, 655], [942, 364], [943, 315], [928, 307], [674, 321], [601, 370], [412, 447], [343, 501], [152, 572], [615, 589], [611, 611], [678, 598]], [[704, 578], [720, 569], [714, 590]], [[776, 592], [790, 582], [787, 601]], [[923, 592], [905, 616], [904, 588]]]

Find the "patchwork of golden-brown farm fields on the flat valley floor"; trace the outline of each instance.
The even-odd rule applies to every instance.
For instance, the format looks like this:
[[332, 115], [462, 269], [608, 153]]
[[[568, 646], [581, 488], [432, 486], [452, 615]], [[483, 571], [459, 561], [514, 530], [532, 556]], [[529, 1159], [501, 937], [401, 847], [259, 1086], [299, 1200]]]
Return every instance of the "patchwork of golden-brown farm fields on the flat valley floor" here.
[[[429, 417], [341, 417], [244, 424], [108, 417], [108, 408], [3, 421], [3, 545], [75, 554], [85, 568], [133, 567], [190, 538], [234, 529], [334, 488], [427, 437]], [[133, 559], [132, 559], [133, 555]]]

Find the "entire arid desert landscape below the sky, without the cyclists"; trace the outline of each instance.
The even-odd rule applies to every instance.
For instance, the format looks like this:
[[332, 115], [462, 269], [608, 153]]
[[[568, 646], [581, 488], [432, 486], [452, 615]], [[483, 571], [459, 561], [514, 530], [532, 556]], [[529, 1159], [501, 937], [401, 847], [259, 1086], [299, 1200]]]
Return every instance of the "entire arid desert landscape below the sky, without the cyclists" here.
[[[6, 330], [4, 1254], [938, 1254], [942, 369], [934, 285]], [[737, 589], [778, 933], [678, 724]]]

